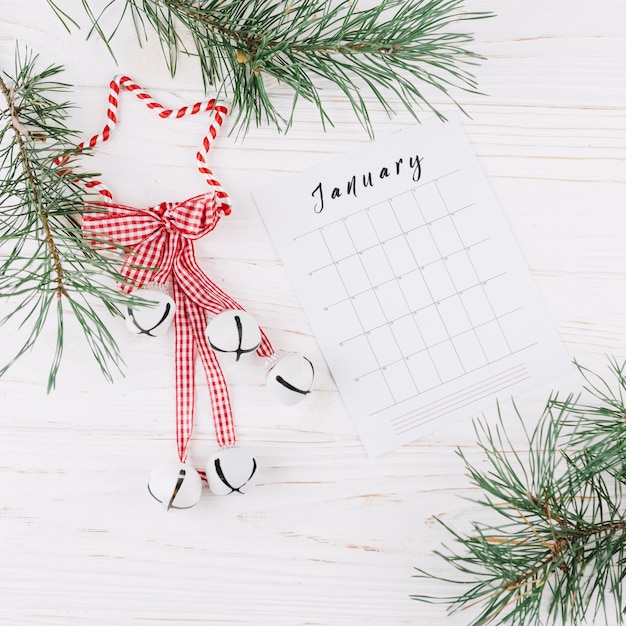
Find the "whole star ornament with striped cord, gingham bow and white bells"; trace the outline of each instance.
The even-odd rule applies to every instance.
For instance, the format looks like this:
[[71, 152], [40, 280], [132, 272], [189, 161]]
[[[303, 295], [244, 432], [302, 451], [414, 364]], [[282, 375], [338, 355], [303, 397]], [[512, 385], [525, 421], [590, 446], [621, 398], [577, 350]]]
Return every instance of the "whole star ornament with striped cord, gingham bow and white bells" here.
[[[121, 289], [135, 292], [156, 301], [154, 310], [134, 306], [128, 313], [129, 328], [139, 334], [157, 335], [174, 315], [176, 376], [176, 443], [178, 463], [155, 468], [148, 489], [166, 509], [188, 508], [199, 499], [196, 476], [205, 477], [217, 494], [243, 493], [256, 471], [256, 461], [247, 452], [235, 448], [237, 437], [228, 387], [215, 350], [232, 352], [238, 360], [246, 352], [256, 351], [261, 357], [274, 354], [265, 333], [235, 300], [218, 287], [200, 268], [195, 258], [194, 241], [211, 232], [222, 215], [231, 212], [228, 195], [213, 176], [206, 162], [211, 141], [217, 136], [225, 106], [215, 100], [198, 102], [178, 110], [166, 109], [128, 76], [110, 83], [108, 122], [88, 142], [93, 148], [106, 141], [118, 122], [121, 88], [134, 93], [161, 118], [180, 118], [209, 111], [213, 115], [209, 131], [196, 153], [198, 170], [210, 187], [207, 193], [182, 202], [161, 202], [141, 209], [118, 204], [106, 185], [90, 180], [86, 186], [98, 192], [103, 200], [93, 202], [96, 209], [83, 217], [83, 234], [96, 249], [114, 247], [126, 251], [120, 270]], [[79, 144], [78, 151], [86, 143]], [[63, 167], [67, 159], [59, 159]], [[156, 268], [156, 270], [155, 270]], [[167, 295], [171, 284], [173, 299]], [[207, 314], [213, 315], [207, 325]], [[209, 338], [213, 344], [209, 344]], [[194, 426], [195, 357], [200, 357], [211, 398], [215, 436], [220, 448], [205, 472], [196, 472], [187, 465], [188, 446]], [[304, 384], [294, 373], [295, 366], [285, 368], [282, 380], [293, 376], [295, 385]], [[278, 377], [277, 377], [278, 380]], [[292, 389], [293, 391], [293, 389]], [[304, 393], [298, 390], [298, 393]], [[308, 393], [308, 391], [306, 391]]]

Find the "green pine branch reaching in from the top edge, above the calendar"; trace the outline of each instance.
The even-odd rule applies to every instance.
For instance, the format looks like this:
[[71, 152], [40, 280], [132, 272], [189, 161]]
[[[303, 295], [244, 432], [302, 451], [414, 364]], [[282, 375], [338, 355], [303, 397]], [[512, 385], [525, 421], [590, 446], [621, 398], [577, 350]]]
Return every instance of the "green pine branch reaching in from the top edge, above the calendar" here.
[[[76, 23], [48, 2], [67, 28]], [[353, 0], [112, 0], [100, 15], [88, 0], [82, 5], [109, 49], [130, 16], [140, 41], [158, 38], [172, 75], [180, 54], [196, 57], [205, 89], [232, 97], [243, 132], [253, 123], [287, 130], [300, 98], [315, 104], [323, 125], [332, 124], [323, 104], [329, 85], [370, 135], [367, 91], [388, 113], [393, 94], [416, 118], [423, 109], [443, 118], [430, 92], [462, 110], [454, 92], [478, 93], [469, 68], [482, 57], [468, 48], [472, 35], [457, 28], [491, 16], [464, 12], [461, 0], [382, 0], [368, 9]], [[105, 33], [102, 15], [120, 7], [113, 32]], [[268, 78], [293, 91], [289, 112], [276, 107]]]

